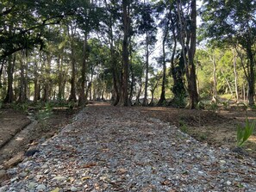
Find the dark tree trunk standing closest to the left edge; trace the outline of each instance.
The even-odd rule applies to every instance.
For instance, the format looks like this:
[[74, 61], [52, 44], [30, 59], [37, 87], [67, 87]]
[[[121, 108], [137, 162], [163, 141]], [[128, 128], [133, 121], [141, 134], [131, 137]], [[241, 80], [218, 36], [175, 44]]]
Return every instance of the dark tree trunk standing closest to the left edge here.
[[13, 60], [11, 56], [9, 56], [9, 59], [8, 59], [8, 65], [7, 65], [8, 88], [7, 88], [7, 94], [3, 100], [3, 102], [5, 103], [11, 103], [14, 100], [12, 85], [13, 85], [13, 73], [14, 73], [15, 64], [16, 64], [16, 54], [14, 54]]

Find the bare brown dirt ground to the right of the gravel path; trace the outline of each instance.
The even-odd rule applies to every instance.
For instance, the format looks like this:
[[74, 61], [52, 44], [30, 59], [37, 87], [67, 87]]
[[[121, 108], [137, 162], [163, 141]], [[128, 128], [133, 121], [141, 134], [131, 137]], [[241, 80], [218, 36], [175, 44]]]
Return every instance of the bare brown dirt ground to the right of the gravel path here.
[[[232, 150], [236, 146], [237, 126], [243, 125], [246, 118], [249, 120], [256, 119], [256, 111], [243, 108], [222, 109], [216, 112], [182, 108], [138, 109], [141, 113], [176, 125], [181, 131], [203, 143], [215, 147], [228, 147]], [[256, 158], [255, 131], [245, 146], [242, 147], [242, 152], [253, 158]]]

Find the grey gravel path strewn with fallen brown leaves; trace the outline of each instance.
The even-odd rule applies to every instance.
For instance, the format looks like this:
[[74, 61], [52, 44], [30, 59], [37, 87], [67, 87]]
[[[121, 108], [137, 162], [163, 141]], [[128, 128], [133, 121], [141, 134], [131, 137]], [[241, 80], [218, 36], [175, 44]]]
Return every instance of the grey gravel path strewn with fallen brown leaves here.
[[0, 191], [256, 191], [256, 162], [133, 108], [92, 105], [8, 170]]

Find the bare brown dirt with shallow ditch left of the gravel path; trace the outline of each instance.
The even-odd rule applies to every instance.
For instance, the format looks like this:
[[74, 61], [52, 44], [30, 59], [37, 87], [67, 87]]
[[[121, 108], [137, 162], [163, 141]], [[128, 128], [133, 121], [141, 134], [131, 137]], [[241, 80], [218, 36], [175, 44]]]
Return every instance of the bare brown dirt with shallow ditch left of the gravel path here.
[[11, 108], [1, 108], [0, 165], [18, 152], [26, 152], [40, 139], [53, 137], [61, 127], [72, 121], [74, 113], [76, 110], [56, 108], [53, 109], [53, 115], [49, 118], [31, 121], [28, 118], [28, 113]]

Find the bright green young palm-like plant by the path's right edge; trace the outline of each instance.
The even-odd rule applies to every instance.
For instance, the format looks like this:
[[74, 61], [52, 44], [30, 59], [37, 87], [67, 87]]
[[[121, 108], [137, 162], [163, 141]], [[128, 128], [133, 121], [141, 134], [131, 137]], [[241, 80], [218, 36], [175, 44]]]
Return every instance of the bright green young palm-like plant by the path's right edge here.
[[254, 128], [256, 126], [256, 121], [249, 122], [246, 120], [246, 125], [244, 127], [238, 125], [236, 133], [236, 146], [243, 146], [247, 139], [253, 134]]

